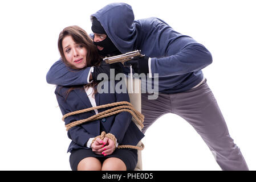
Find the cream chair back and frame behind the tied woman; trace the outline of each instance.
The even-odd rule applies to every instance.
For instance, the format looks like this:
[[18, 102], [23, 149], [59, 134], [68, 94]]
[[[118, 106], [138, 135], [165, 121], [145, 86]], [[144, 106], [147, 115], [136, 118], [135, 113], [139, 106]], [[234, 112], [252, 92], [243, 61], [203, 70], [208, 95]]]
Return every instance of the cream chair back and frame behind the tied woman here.
[[[127, 84], [127, 90], [128, 90], [131, 104], [133, 105], [133, 107], [135, 107], [137, 111], [141, 113], [141, 80], [139, 78], [133, 78], [131, 82], [131, 78], [128, 77], [126, 84]], [[137, 125], [137, 127], [141, 130], [140, 125]], [[141, 141], [137, 144], [137, 146], [141, 146]], [[135, 167], [135, 171], [141, 171], [141, 170], [142, 170], [141, 150], [138, 150], [138, 163], [137, 163], [137, 166]]]

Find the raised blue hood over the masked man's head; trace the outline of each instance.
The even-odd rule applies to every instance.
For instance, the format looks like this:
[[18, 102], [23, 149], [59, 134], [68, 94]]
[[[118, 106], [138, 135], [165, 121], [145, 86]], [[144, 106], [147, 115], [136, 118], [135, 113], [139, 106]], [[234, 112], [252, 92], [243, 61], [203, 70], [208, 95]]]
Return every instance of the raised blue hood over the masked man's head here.
[[111, 3], [95, 14], [105, 32], [121, 53], [134, 51], [137, 38], [132, 7], [125, 3]]

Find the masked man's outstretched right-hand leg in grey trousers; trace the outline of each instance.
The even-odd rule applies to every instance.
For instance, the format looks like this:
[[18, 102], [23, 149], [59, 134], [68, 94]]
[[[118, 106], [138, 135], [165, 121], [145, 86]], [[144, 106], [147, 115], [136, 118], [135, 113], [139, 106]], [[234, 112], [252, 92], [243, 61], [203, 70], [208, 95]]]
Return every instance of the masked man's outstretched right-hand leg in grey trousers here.
[[196, 129], [223, 170], [248, 170], [206, 81], [188, 92], [169, 96], [172, 113], [180, 115]]

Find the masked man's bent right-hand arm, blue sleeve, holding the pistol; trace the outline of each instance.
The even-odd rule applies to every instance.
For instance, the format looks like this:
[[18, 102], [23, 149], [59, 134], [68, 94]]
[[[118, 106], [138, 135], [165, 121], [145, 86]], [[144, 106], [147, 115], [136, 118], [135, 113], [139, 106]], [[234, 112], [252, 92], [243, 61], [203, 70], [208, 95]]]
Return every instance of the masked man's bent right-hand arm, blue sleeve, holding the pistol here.
[[137, 72], [169, 77], [199, 71], [212, 63], [208, 49], [190, 36], [174, 31], [161, 19], [148, 18], [141, 24], [144, 39], [140, 49], [145, 57], [137, 65], [134, 63]]

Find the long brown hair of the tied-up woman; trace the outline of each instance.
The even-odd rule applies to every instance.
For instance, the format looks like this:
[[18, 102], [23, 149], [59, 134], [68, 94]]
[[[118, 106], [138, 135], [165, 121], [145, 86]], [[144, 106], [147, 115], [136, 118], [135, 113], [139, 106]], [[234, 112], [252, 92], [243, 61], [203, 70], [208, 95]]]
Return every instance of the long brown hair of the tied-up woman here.
[[[101, 57], [97, 51], [97, 47], [94, 45], [94, 42], [92, 42], [92, 39], [90, 38], [90, 36], [88, 36], [87, 32], [84, 31], [79, 26], [69, 26], [64, 28], [63, 31], [60, 32], [59, 39], [58, 39], [58, 49], [59, 49], [60, 56], [62, 57], [63, 62], [68, 67], [72, 69], [78, 69], [78, 68], [75, 68], [70, 63], [68, 63], [66, 57], [64, 56], [62, 40], [68, 35], [72, 37], [75, 43], [81, 44], [84, 48], [87, 49], [86, 61], [87, 61], [88, 67], [92, 67], [100, 64]], [[85, 68], [82, 68], [82, 69], [85, 69]], [[87, 84], [86, 86], [92, 86], [95, 89], [95, 92], [94, 92], [95, 94], [97, 92], [96, 85], [97, 85], [97, 82], [93, 81], [91, 84]], [[67, 95], [68, 93], [70, 93], [71, 90], [75, 88], [76, 87], [70, 88], [67, 92]]]

